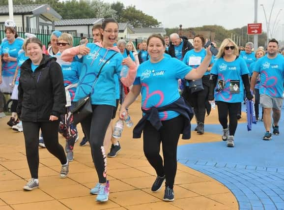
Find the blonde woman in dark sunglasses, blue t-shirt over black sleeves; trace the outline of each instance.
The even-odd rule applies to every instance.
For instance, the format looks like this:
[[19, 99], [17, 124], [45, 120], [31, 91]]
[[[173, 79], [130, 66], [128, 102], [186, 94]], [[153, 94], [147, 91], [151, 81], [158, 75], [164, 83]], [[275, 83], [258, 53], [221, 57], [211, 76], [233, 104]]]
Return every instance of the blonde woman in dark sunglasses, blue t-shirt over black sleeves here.
[[234, 147], [237, 114], [244, 99], [243, 87], [246, 97], [249, 100], [253, 98], [250, 91], [249, 69], [245, 60], [238, 56], [238, 47], [231, 39], [224, 39], [216, 58], [211, 69], [208, 99], [213, 101], [215, 97], [219, 122], [223, 126], [222, 139], [227, 141], [227, 147]]

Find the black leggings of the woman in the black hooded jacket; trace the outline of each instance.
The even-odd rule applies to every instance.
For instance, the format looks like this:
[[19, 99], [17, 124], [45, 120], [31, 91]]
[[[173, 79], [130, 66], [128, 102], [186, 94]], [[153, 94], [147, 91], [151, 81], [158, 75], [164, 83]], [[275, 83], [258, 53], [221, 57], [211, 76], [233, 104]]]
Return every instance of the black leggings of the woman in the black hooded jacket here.
[[38, 136], [41, 129], [46, 149], [56, 156], [61, 164], [67, 162], [63, 147], [58, 143], [59, 120], [48, 122], [23, 121], [26, 154], [31, 178], [38, 179]]

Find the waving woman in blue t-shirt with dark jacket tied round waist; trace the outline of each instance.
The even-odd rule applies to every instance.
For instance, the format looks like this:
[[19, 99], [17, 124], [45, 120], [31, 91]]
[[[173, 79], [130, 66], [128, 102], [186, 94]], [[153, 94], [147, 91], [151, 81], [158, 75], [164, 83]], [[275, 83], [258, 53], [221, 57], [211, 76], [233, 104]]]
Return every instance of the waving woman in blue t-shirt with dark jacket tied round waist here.
[[[152, 191], [161, 189], [166, 180], [164, 201], [173, 201], [173, 184], [176, 174], [176, 150], [180, 133], [190, 138], [192, 110], [178, 92], [178, 79], [199, 79], [206, 71], [212, 55], [207, 55], [197, 69], [175, 58], [165, 58], [165, 41], [160, 34], [147, 39], [149, 60], [140, 64], [133, 88], [120, 108], [119, 117], [142, 94], [143, 118], [133, 130], [134, 138], [140, 138], [143, 131], [144, 154], [155, 169], [157, 178]], [[163, 147], [163, 159], [160, 144]]]

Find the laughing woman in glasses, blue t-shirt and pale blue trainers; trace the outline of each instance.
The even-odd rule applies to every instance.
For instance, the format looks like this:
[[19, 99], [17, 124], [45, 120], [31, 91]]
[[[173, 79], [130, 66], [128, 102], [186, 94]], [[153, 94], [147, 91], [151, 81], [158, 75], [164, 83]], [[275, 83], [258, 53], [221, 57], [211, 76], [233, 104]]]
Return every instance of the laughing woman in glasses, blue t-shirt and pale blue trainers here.
[[[104, 138], [116, 106], [114, 74], [129, 87], [136, 76], [136, 65], [130, 58], [123, 59], [117, 46], [118, 23], [107, 18], [102, 23], [102, 42], [87, 43], [65, 50], [61, 59], [72, 61], [74, 56], [82, 55], [83, 66], [80, 81], [74, 101], [90, 94], [92, 115], [81, 121], [89, 139], [93, 162], [99, 182], [91, 189], [91, 194], [97, 194], [97, 201], [106, 202], [109, 199], [109, 181], [107, 180], [107, 154], [104, 148]], [[122, 65], [129, 67], [126, 77], [120, 75]], [[98, 73], [101, 69], [101, 73]]]

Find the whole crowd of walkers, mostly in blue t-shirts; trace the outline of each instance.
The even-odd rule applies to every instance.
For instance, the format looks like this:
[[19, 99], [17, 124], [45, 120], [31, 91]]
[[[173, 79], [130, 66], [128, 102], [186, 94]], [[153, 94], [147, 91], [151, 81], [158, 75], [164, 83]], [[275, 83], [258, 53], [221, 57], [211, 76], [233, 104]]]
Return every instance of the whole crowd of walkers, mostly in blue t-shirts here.
[[[80, 146], [89, 142], [99, 180], [90, 193], [97, 195], [98, 202], [108, 201], [107, 157], [121, 150], [113, 135], [116, 112], [119, 119], [129, 119], [128, 109], [140, 95], [142, 118], [133, 129], [133, 138], [143, 133], [145, 157], [157, 174], [151, 190], [159, 191], [165, 181], [164, 201], [174, 200], [177, 144], [180, 134], [183, 139], [191, 138], [194, 116], [195, 131], [202, 135], [205, 115], [216, 104], [221, 138], [227, 147], [234, 147], [241, 104], [246, 99], [255, 105], [256, 121], [263, 120], [262, 139], [280, 134], [284, 55], [277, 40], [269, 40], [265, 51], [254, 49], [251, 42], [241, 50], [226, 38], [215, 54], [216, 44], [207, 45], [199, 34], [193, 44], [177, 33], [170, 37], [152, 34], [135, 47], [131, 41], [118, 40], [118, 31], [114, 19], [105, 19], [102, 25], [93, 26], [93, 42], [82, 39], [79, 46], [73, 46], [72, 35], [54, 31], [45, 52], [35, 35], [26, 33], [23, 39], [14, 26], [6, 26], [6, 38], [0, 45], [0, 94], [11, 94], [8, 126], [24, 133], [31, 175], [25, 190], [39, 187], [39, 146], [57, 157], [59, 177], [67, 177], [78, 140], [77, 124], [81, 123]], [[91, 114], [78, 121], [72, 110], [86, 96]], [[3, 118], [1, 99], [2, 95]], [[58, 143], [58, 132], [66, 139], [65, 148]]]

